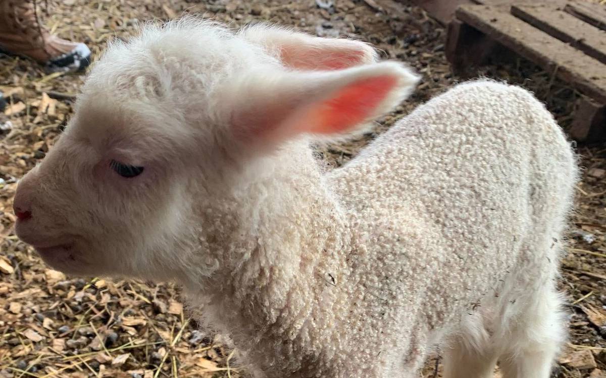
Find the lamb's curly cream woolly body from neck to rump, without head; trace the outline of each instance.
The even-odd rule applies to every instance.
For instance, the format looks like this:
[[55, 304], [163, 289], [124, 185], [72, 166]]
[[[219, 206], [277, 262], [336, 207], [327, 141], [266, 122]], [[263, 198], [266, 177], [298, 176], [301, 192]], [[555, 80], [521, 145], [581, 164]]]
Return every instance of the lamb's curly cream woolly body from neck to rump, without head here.
[[305, 144], [281, 154], [238, 204], [261, 212], [259, 243], [201, 306], [259, 377], [413, 377], [436, 346], [471, 369], [451, 377], [497, 357], [519, 377], [548, 371], [576, 166], [533, 96], [460, 85], [325, 175]]

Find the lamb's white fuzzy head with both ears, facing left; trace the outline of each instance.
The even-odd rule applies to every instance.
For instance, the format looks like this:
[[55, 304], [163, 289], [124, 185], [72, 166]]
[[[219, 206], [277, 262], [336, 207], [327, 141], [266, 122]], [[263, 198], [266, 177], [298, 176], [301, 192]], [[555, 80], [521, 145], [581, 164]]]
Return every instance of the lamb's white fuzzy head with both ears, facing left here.
[[414, 74], [374, 60], [362, 42], [191, 19], [113, 44], [19, 183], [16, 231], [67, 273], [175, 278], [208, 223], [202, 205], [248, 166], [290, 139], [358, 129], [410, 93]]

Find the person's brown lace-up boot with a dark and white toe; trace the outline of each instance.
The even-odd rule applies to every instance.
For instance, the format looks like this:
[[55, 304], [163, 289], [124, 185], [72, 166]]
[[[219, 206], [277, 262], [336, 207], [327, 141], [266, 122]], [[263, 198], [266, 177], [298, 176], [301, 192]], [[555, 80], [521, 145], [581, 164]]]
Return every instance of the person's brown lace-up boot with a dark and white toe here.
[[88, 47], [48, 33], [37, 11], [34, 0], [0, 0], [0, 51], [35, 59], [50, 72], [84, 70]]

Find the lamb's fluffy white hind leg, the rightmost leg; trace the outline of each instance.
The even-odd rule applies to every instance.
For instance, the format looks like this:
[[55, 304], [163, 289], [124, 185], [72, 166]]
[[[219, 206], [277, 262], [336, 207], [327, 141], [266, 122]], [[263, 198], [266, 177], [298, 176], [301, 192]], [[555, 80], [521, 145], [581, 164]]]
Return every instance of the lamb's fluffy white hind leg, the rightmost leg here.
[[[506, 352], [499, 359], [504, 378], [548, 378], [566, 338], [562, 299], [551, 287], [539, 290], [533, 303], [511, 327]], [[542, 291], [542, 292], [541, 292]]]

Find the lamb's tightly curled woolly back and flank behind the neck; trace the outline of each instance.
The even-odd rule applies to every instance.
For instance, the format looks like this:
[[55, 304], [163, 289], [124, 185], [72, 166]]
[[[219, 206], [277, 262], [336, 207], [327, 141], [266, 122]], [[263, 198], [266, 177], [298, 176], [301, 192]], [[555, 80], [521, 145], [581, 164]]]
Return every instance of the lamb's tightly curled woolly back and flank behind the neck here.
[[408, 304], [394, 317], [429, 329], [498, 297], [521, 265], [551, 274], [555, 250], [528, 249], [551, 239], [546, 227], [561, 232], [575, 178], [544, 106], [489, 81], [420, 106], [327, 177], [356, 235], [352, 282]]

